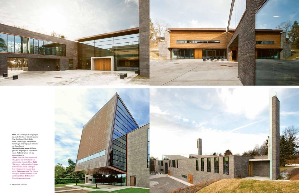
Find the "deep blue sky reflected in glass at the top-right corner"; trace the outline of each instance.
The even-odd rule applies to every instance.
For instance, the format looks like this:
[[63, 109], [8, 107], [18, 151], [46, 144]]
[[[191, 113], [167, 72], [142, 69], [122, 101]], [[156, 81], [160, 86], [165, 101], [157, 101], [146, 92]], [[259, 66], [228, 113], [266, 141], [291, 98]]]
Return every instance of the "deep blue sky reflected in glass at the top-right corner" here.
[[[275, 17], [274, 17], [275, 16]], [[299, 22], [298, 0], [269, 0], [256, 16], [257, 29], [275, 29], [283, 21]]]

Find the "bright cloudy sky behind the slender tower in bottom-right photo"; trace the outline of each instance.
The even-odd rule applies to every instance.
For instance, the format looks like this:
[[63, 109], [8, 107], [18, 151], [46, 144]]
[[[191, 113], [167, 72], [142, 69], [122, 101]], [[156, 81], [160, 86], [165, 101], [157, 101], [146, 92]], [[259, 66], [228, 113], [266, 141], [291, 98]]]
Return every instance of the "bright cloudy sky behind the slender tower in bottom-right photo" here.
[[[280, 100], [280, 129], [299, 127], [299, 89], [277, 89]], [[269, 135], [267, 88], [238, 89], [151, 89], [150, 155], [188, 156], [197, 153], [233, 154], [262, 144]]]

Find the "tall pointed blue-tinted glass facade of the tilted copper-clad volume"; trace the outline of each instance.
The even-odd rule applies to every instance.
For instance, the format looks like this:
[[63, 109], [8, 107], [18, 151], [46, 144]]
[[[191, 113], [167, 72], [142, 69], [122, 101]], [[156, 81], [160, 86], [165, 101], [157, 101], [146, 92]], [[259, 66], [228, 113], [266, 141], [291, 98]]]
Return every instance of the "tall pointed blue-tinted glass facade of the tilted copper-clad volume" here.
[[126, 172], [127, 133], [138, 128], [120, 99], [117, 99], [109, 165]]

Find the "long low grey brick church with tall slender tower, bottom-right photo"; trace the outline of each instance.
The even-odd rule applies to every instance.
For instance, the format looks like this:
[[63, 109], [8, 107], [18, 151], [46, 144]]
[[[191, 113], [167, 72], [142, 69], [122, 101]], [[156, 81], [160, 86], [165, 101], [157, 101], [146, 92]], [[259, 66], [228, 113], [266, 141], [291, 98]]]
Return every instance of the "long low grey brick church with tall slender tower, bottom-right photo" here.
[[270, 97], [270, 134], [268, 155], [213, 156], [202, 155], [202, 139], [197, 139], [198, 154], [188, 158], [172, 156], [169, 160], [155, 161], [155, 172], [166, 173], [191, 184], [226, 178], [279, 177], [279, 100]]

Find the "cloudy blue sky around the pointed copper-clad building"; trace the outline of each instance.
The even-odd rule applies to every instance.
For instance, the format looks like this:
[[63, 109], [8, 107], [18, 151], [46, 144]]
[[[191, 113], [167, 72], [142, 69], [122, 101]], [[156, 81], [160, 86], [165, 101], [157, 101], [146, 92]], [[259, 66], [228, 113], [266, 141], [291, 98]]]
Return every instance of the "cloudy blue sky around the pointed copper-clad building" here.
[[55, 89], [55, 164], [76, 161], [83, 126], [116, 92], [139, 126], [150, 122], [149, 89]]

